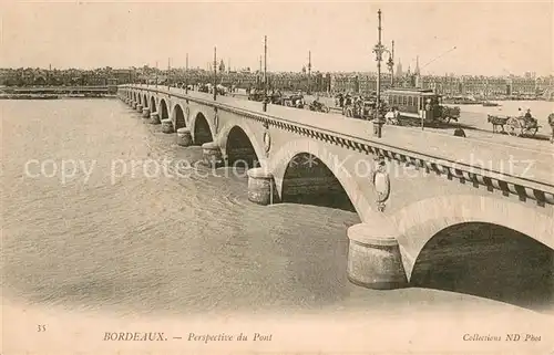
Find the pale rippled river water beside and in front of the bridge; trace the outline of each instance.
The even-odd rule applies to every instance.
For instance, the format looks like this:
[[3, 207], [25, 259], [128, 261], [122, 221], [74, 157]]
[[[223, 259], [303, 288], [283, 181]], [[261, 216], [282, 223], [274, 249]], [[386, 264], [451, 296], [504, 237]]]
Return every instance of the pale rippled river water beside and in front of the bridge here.
[[[133, 176], [133, 161], [194, 163], [202, 152], [177, 147], [175, 135], [143, 124], [117, 100], [0, 105], [6, 300], [133, 314], [396, 312], [416, 305], [463, 312], [517, 304], [423, 286], [356, 286], [346, 278], [346, 230], [359, 222], [356, 213], [253, 205], [247, 180], [225, 177], [225, 169], [214, 176], [193, 164], [188, 171], [195, 174], [181, 177]], [[62, 180], [61, 171], [70, 177]], [[552, 254], [545, 258], [541, 265], [552, 265]]]

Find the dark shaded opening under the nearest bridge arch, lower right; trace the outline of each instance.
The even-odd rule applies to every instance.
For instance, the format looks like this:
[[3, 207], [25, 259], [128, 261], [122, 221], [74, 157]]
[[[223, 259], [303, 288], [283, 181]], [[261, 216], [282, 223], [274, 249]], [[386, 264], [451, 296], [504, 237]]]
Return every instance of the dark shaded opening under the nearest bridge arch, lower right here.
[[542, 310], [554, 303], [554, 251], [505, 227], [456, 225], [423, 248], [411, 283]]

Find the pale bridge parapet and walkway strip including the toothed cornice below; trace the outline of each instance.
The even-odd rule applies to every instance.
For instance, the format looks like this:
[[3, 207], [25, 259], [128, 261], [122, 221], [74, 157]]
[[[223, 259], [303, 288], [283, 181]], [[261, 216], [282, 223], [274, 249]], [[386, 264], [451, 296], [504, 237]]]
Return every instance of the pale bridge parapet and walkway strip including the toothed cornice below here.
[[[367, 122], [360, 119], [275, 105], [269, 105], [268, 112], [261, 112], [259, 103], [227, 96], [218, 96], [217, 101], [213, 101], [208, 94], [191, 91], [185, 94], [184, 90], [178, 88], [146, 85], [121, 87], [217, 107], [314, 140], [338, 145], [359, 154], [380, 156], [389, 161], [396, 160], [448, 180], [484, 186], [489, 190], [515, 195], [523, 200], [535, 200], [540, 206], [554, 205], [554, 169], [548, 164], [554, 159], [554, 154], [545, 153], [541, 157], [535, 154], [530, 159], [529, 153], [514, 149], [506, 156], [505, 146], [396, 126], [387, 126], [383, 138], [377, 139], [370, 136]], [[345, 121], [345, 124], [338, 124], [340, 121]], [[365, 132], [367, 137], [360, 135]], [[533, 159], [536, 159], [535, 164]]]

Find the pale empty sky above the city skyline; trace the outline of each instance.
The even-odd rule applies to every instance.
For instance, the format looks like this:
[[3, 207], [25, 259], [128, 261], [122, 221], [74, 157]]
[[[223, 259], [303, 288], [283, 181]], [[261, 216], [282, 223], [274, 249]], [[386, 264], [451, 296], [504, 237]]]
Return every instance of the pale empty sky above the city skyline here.
[[[0, 67], [259, 67], [376, 71], [382, 41], [422, 74], [554, 73], [554, 1], [0, 1]], [[453, 49], [455, 48], [455, 49]], [[383, 66], [386, 70], [386, 66]]]

